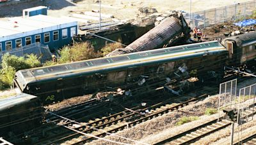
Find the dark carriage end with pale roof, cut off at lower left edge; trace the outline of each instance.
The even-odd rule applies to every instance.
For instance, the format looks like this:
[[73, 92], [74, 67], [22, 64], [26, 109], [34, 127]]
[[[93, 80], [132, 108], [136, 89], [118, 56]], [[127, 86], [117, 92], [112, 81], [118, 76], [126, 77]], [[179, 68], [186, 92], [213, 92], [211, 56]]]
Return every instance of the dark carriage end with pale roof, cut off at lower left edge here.
[[0, 136], [15, 141], [17, 135], [38, 127], [44, 109], [40, 99], [34, 95], [20, 93], [0, 99]]

